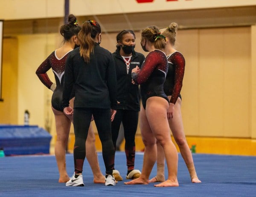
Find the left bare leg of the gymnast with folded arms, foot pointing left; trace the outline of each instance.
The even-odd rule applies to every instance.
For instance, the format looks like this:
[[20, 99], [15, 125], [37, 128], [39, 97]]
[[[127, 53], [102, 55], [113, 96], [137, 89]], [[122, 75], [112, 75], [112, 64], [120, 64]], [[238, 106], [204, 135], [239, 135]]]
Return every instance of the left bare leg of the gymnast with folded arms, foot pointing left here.
[[143, 168], [139, 178], [125, 182], [126, 185], [132, 184], [148, 184], [148, 178], [156, 162], [157, 150], [156, 139], [148, 124], [146, 113], [143, 107], [140, 110], [140, 130], [145, 145]]

